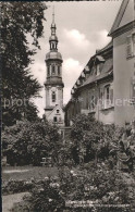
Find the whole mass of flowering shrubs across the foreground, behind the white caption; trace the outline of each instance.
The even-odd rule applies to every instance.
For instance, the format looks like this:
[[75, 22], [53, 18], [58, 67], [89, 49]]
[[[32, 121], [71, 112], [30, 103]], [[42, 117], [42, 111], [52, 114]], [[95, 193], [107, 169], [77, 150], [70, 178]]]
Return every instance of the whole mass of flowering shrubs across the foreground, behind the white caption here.
[[[131, 184], [127, 183], [127, 177], [132, 177], [128, 180]], [[94, 212], [94, 208], [97, 212], [132, 212], [135, 196], [133, 179], [134, 176], [130, 174], [123, 175], [116, 170], [109, 171], [102, 166], [91, 167], [91, 172], [86, 169], [70, 170], [68, 166], [63, 166], [59, 169], [59, 177], [25, 182], [24, 186], [33, 185], [30, 189], [29, 187], [27, 190], [25, 189], [25, 191], [29, 191], [29, 195], [23, 202], [14, 205], [13, 212], [25, 210], [32, 212], [83, 211], [87, 208], [91, 212]], [[16, 186], [19, 185], [16, 184]], [[70, 209], [68, 204], [71, 204]], [[131, 208], [128, 205], [120, 207], [120, 204], [128, 204]]]

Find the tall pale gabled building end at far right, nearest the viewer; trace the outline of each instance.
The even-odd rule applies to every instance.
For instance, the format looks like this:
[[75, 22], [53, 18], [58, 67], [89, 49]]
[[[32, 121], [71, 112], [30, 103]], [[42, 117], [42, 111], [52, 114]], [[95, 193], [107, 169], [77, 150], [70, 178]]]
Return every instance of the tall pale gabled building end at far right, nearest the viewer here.
[[109, 33], [113, 40], [114, 121], [123, 126], [135, 116], [135, 0], [124, 0]]

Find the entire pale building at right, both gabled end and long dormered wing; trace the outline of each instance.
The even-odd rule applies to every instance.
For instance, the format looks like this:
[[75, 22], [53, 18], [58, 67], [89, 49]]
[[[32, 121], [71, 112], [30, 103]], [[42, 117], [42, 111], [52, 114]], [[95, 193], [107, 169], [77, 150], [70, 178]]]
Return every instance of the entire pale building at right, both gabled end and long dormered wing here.
[[105, 124], [124, 126], [135, 115], [135, 5], [123, 0], [109, 33], [112, 37], [93, 55], [71, 90], [65, 124], [79, 113]]

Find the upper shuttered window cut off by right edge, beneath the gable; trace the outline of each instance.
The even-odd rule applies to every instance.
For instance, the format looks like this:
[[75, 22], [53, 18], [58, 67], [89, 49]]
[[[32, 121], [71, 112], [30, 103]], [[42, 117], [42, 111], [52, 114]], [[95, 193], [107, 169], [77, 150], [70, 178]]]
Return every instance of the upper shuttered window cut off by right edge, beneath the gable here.
[[135, 33], [126, 37], [126, 58], [135, 55]]

